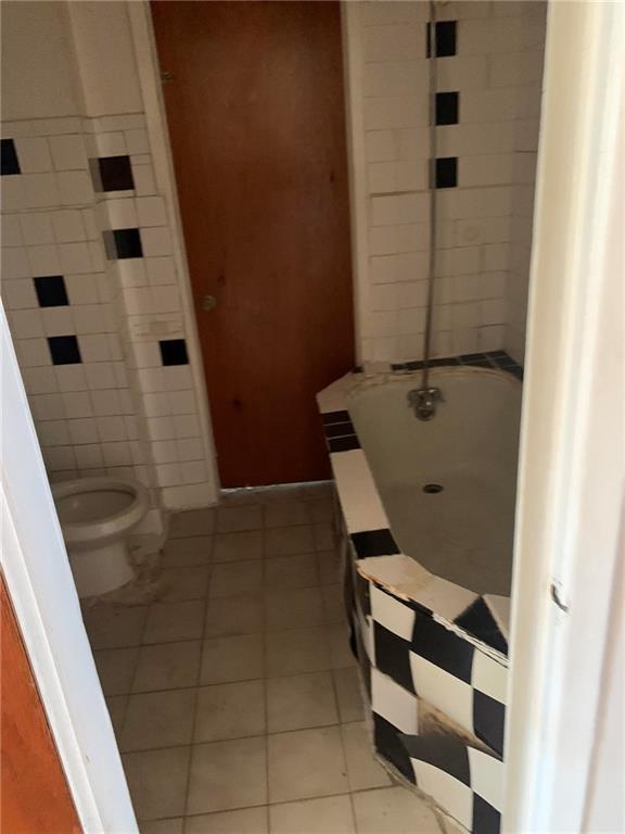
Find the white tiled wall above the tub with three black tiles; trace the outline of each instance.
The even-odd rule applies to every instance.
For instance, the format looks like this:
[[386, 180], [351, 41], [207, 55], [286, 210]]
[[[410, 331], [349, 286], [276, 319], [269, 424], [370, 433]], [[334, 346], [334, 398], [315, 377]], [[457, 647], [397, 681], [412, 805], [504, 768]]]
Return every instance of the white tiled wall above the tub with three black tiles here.
[[[431, 60], [425, 2], [352, 15], [367, 168], [363, 359], [423, 351], [430, 250]], [[543, 2], [436, 7], [434, 351], [498, 350], [524, 333], [540, 104]], [[358, 129], [358, 128], [357, 128]]]

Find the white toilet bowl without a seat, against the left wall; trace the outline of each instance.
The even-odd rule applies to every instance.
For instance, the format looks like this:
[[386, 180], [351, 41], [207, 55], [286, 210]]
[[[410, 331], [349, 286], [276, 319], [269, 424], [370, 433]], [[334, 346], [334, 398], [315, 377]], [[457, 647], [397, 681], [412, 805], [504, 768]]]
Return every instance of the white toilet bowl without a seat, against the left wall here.
[[128, 535], [148, 511], [148, 491], [131, 478], [78, 478], [52, 484], [78, 596], [129, 582]]

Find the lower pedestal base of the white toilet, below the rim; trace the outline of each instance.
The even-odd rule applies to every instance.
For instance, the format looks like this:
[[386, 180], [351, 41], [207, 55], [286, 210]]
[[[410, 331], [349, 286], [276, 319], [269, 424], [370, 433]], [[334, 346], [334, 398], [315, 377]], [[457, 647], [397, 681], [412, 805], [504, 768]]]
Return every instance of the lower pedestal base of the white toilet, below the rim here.
[[68, 554], [80, 599], [107, 594], [135, 577], [126, 539], [90, 551], [69, 551]]

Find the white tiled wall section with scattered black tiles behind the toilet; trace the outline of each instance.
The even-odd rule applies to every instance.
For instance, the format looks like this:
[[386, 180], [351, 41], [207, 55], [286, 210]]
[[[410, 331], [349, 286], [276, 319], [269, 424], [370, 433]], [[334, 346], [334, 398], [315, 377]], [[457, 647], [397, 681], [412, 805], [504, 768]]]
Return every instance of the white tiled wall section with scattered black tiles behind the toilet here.
[[131, 475], [166, 506], [197, 502], [206, 450], [143, 114], [3, 136], [3, 303], [51, 479]]

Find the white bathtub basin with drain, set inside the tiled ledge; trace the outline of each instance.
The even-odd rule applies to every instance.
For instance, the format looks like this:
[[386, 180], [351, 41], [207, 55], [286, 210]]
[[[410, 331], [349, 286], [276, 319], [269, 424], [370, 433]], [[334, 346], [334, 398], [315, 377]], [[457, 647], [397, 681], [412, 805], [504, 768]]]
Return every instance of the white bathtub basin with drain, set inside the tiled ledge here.
[[[419, 372], [356, 384], [346, 406], [403, 554], [477, 594], [510, 594], [521, 383], [510, 374], [436, 368], [445, 402], [419, 420]], [[439, 492], [425, 492], [436, 484]]]

